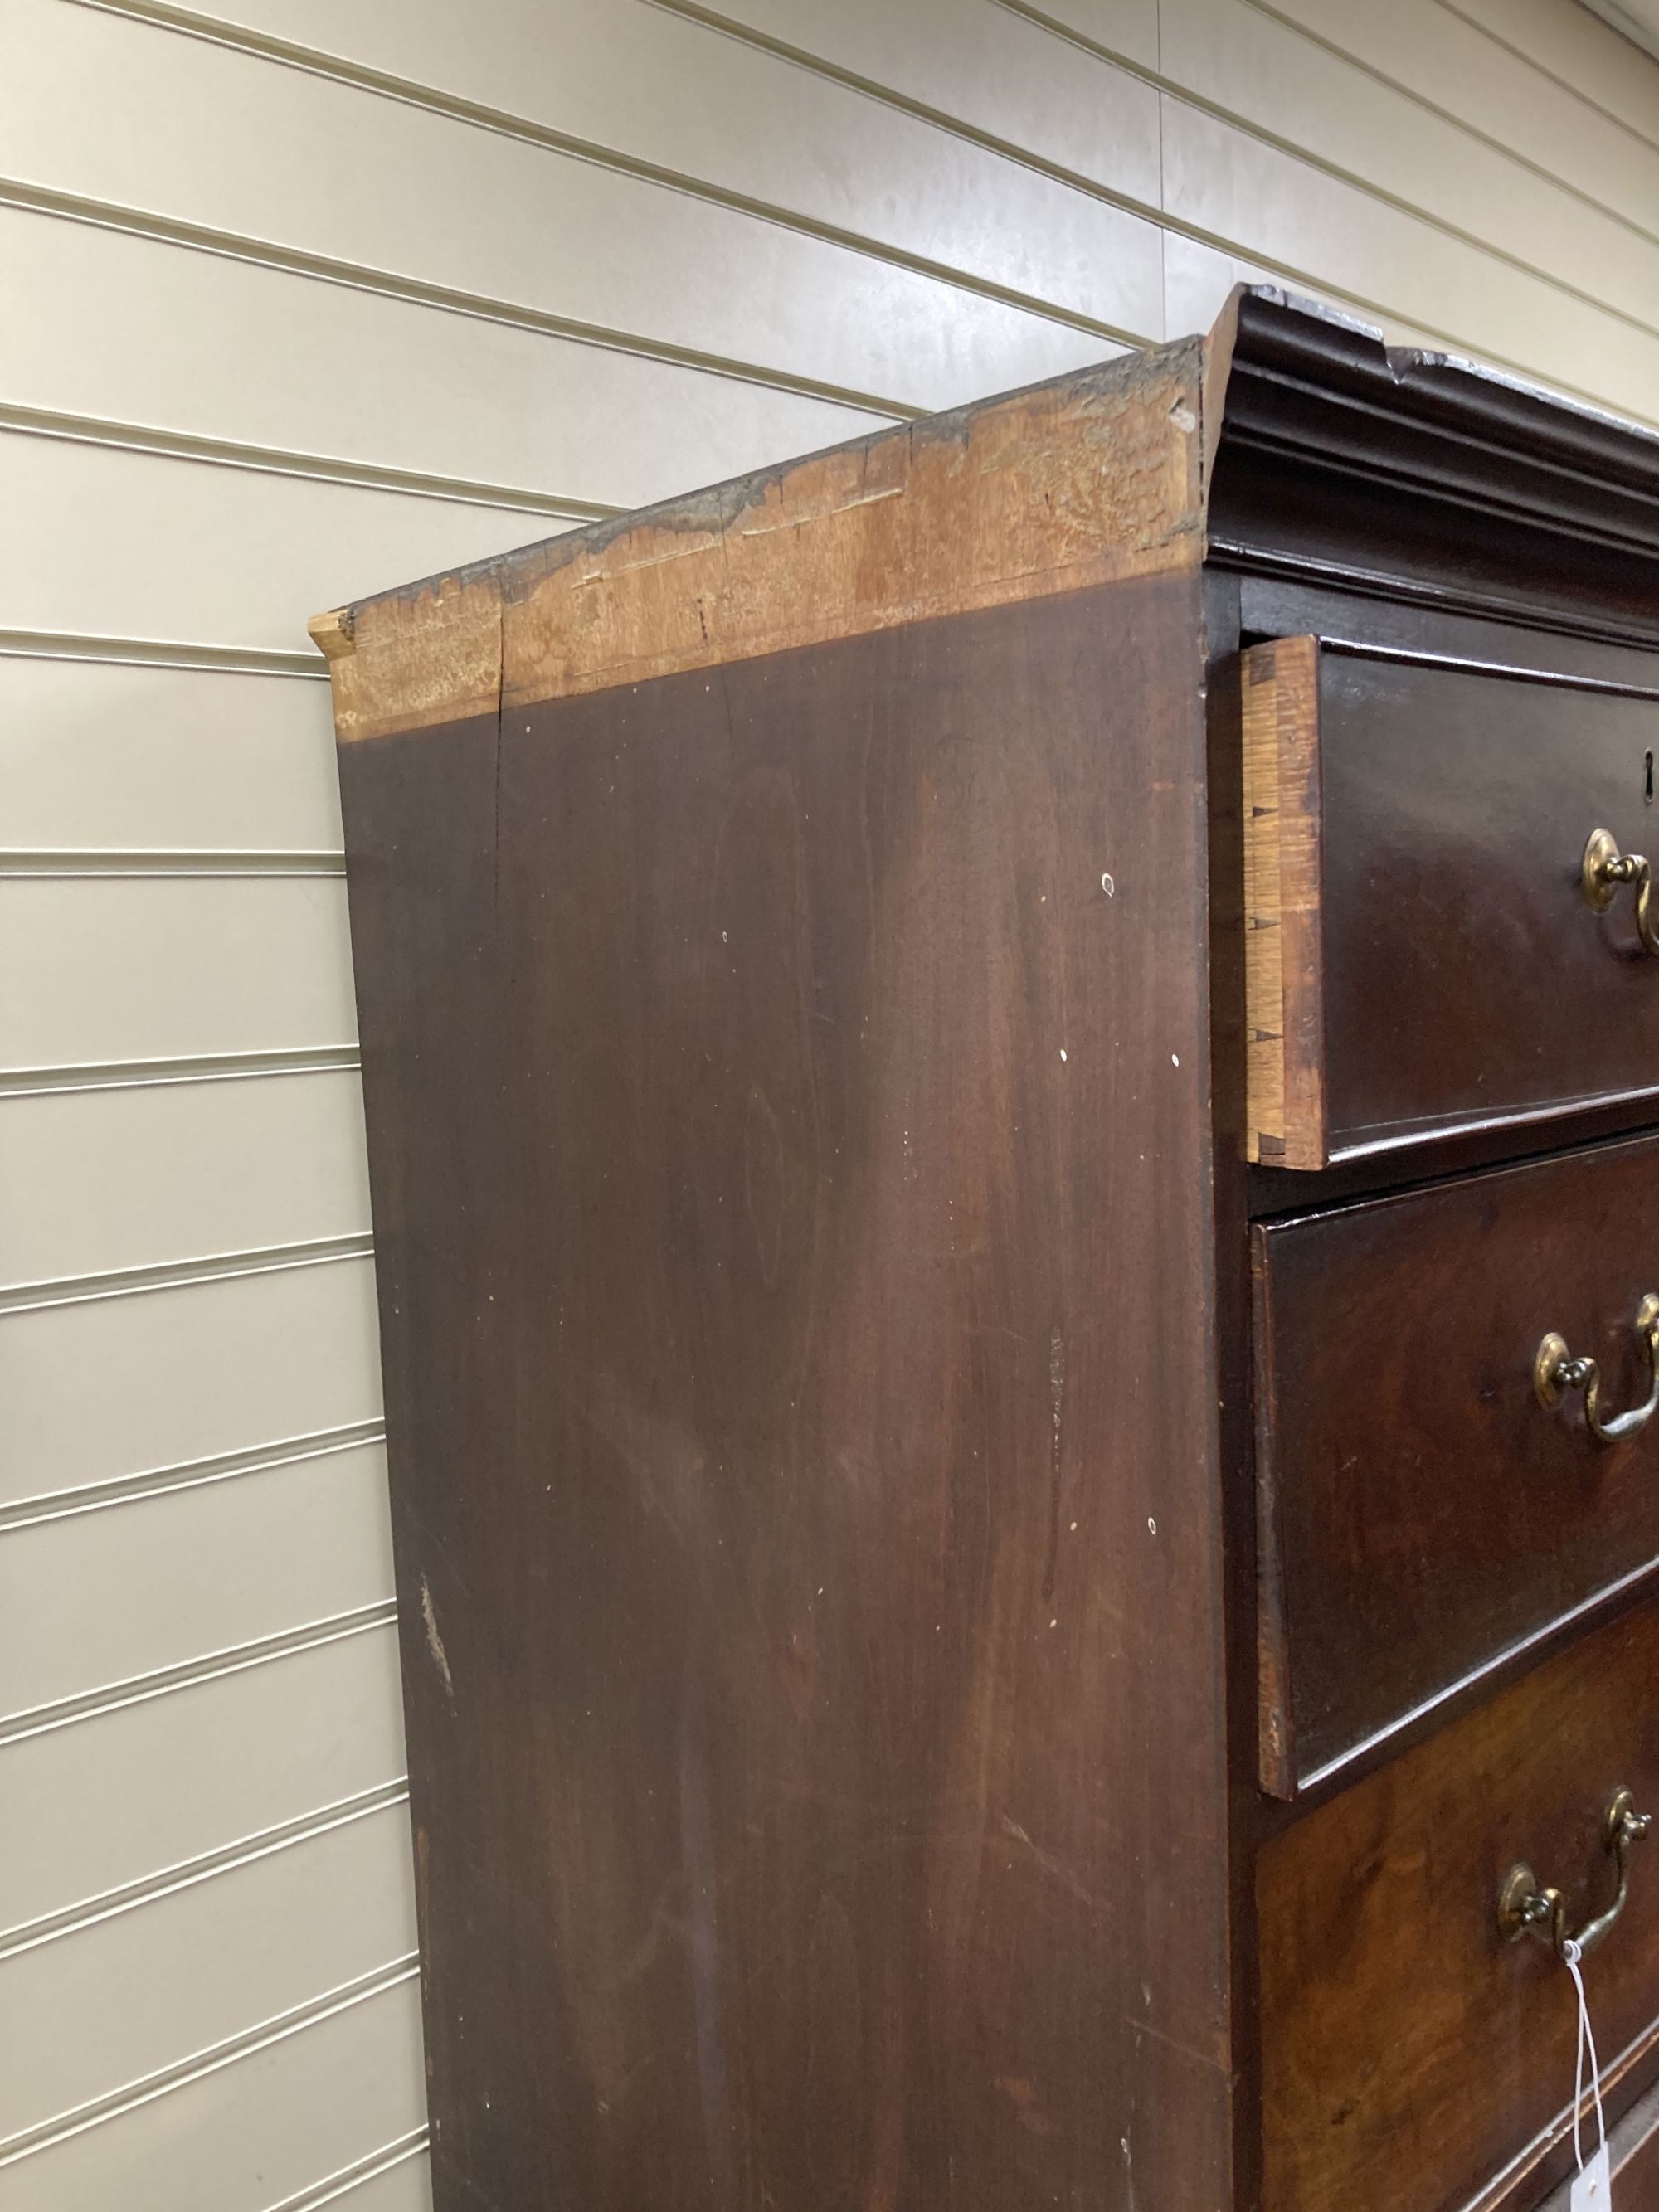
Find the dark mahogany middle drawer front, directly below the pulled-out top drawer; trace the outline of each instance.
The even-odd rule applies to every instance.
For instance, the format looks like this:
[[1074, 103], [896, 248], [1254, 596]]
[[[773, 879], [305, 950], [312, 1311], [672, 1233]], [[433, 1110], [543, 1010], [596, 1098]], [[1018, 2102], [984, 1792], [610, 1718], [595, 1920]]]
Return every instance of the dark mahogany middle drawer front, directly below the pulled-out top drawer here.
[[[1659, 984], [1659, 975], [1655, 975]], [[1659, 1573], [1659, 1137], [1254, 1230], [1263, 1783], [1279, 1796], [1610, 1586]]]

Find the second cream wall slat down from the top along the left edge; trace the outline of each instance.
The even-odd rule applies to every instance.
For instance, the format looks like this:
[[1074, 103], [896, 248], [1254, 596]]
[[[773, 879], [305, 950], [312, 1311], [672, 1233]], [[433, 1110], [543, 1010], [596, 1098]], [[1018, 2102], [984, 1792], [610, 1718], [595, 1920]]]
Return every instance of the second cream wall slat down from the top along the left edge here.
[[564, 507], [641, 507], [891, 420], [27, 208], [0, 208], [0, 263], [31, 299], [0, 321], [13, 400]]

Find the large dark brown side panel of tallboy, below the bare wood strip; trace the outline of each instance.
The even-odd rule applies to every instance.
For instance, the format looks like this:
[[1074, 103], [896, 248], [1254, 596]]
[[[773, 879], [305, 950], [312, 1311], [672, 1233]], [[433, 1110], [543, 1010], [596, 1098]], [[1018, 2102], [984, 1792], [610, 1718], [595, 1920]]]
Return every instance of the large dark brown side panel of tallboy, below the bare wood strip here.
[[1199, 679], [343, 750], [440, 2212], [1230, 2201]]

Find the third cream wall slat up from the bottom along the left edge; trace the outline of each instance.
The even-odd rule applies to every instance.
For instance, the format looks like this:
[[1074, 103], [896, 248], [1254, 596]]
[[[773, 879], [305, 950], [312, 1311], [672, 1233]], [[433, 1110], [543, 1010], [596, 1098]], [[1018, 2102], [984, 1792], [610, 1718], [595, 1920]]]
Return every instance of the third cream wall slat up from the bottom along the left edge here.
[[7, 1918], [51, 1920], [405, 1767], [392, 1621], [20, 1736], [0, 1750]]

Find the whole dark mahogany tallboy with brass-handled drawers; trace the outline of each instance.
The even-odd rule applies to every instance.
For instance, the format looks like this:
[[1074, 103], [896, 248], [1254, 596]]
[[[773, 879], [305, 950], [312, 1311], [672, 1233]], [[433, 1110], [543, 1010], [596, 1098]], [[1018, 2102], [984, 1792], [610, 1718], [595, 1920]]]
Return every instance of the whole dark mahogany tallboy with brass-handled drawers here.
[[1659, 2208], [1659, 442], [1243, 292], [314, 633], [438, 2212], [1524, 2212], [1571, 1936]]

